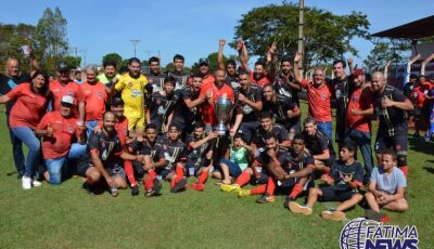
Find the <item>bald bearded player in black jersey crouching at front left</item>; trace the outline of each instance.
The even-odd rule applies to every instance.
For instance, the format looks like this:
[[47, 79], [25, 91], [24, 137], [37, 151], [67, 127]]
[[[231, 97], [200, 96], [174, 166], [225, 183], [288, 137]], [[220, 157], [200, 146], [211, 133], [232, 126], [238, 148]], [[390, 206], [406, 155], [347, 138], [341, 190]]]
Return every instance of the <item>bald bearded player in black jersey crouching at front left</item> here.
[[101, 132], [90, 135], [86, 156], [77, 167], [78, 174], [85, 178], [84, 187], [88, 193], [90, 193], [89, 187], [99, 182], [102, 175], [111, 187], [112, 196], [116, 197], [118, 188], [127, 187], [123, 160], [143, 161], [142, 156], [124, 152], [115, 123], [115, 115], [106, 112]]

